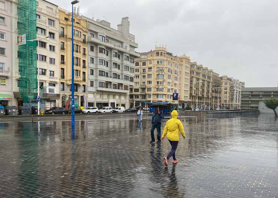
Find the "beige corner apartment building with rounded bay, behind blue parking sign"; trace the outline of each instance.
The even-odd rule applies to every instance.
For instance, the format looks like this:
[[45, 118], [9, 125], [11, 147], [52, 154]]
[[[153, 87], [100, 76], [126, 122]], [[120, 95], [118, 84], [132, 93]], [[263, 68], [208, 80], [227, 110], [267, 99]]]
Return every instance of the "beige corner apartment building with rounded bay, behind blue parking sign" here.
[[186, 55], [174, 56], [164, 46], [154, 51], [140, 53], [135, 59], [134, 87], [130, 91], [130, 106], [151, 102], [178, 103], [173, 93], [178, 93], [180, 106], [189, 97], [189, 61]]

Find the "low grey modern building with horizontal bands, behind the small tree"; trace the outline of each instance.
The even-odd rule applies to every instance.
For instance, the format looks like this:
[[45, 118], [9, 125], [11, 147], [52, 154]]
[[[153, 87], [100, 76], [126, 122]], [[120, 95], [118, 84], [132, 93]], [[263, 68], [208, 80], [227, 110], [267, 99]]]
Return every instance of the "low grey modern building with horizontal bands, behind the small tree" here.
[[[242, 88], [241, 109], [259, 110], [262, 113], [273, 113], [263, 101], [265, 99], [278, 99], [278, 87], [245, 87]], [[278, 111], [278, 108], [276, 109]]]

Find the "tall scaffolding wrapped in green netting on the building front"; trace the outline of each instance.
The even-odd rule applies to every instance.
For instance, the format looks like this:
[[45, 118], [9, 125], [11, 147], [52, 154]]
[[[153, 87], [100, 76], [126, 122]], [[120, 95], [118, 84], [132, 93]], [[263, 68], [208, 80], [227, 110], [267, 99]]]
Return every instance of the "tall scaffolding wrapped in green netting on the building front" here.
[[[26, 40], [36, 39], [36, 0], [18, 0], [18, 34], [26, 34]], [[19, 93], [23, 103], [36, 99], [37, 55], [36, 41], [19, 45]]]

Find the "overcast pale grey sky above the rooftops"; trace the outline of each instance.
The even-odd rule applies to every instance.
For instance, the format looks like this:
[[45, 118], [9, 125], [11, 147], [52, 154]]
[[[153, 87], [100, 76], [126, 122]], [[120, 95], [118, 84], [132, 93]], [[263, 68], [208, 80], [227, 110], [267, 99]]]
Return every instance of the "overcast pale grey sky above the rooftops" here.
[[[49, 1], [71, 10], [70, 1]], [[82, 15], [105, 16], [115, 29], [128, 16], [137, 52], [154, 49], [157, 41], [246, 87], [277, 87], [277, 0], [80, 0], [77, 5]]]

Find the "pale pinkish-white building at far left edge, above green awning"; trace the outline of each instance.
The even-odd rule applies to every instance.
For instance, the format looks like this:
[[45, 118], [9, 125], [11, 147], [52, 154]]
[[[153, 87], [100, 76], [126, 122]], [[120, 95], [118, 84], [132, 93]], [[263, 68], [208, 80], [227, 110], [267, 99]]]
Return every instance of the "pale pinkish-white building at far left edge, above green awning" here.
[[0, 105], [12, 105], [12, 2], [0, 1]]

